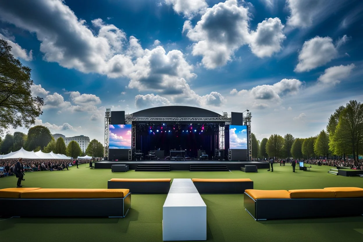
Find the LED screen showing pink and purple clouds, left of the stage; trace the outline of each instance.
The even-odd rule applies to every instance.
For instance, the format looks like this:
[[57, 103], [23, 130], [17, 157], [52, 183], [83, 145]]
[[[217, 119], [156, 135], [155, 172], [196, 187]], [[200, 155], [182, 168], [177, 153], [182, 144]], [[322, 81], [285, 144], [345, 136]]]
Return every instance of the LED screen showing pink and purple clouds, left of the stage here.
[[110, 124], [109, 131], [109, 149], [131, 149], [131, 124]]

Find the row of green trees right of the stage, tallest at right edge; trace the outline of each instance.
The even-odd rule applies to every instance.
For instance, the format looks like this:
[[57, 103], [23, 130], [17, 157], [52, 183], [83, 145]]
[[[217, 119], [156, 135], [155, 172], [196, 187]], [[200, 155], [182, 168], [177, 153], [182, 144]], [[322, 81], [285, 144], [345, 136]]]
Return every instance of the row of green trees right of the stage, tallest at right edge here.
[[316, 156], [352, 155], [355, 164], [363, 151], [363, 104], [351, 100], [331, 114], [326, 130], [309, 138], [271, 135], [261, 141], [252, 133], [252, 158], [310, 159]]

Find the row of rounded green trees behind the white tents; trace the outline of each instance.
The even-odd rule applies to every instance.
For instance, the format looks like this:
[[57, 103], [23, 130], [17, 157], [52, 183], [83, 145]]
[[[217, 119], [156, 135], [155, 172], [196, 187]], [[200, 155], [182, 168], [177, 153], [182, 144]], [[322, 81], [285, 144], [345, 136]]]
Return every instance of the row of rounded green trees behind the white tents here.
[[28, 134], [22, 132], [14, 132], [13, 135], [5, 135], [4, 140], [0, 138], [0, 153], [5, 155], [11, 151], [18, 151], [23, 147], [26, 151], [42, 151], [44, 153], [52, 152], [63, 154], [70, 157], [78, 157], [89, 155], [91, 157], [103, 157], [103, 145], [96, 139], [91, 140], [86, 148], [86, 152], [82, 153], [79, 144], [72, 140], [66, 146], [62, 137], [55, 140], [50, 134], [47, 127], [38, 125], [29, 129]]

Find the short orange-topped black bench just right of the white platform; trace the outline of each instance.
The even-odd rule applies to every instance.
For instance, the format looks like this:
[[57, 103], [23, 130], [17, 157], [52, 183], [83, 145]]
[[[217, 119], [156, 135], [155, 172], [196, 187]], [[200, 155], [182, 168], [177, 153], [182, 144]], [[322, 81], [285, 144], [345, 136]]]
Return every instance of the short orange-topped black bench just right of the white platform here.
[[200, 194], [234, 194], [253, 189], [251, 179], [192, 179]]

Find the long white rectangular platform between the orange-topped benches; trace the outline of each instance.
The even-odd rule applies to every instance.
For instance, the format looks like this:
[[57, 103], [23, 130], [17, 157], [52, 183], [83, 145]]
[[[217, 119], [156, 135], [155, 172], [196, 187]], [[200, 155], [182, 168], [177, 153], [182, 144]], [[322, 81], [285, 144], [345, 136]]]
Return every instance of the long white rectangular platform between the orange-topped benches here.
[[207, 240], [207, 205], [191, 179], [174, 179], [163, 206], [163, 241]]

